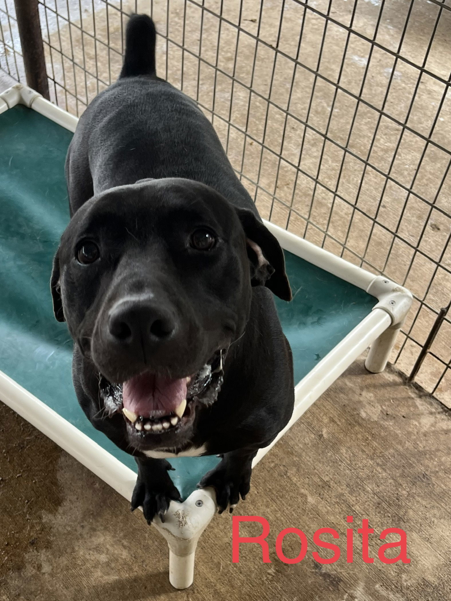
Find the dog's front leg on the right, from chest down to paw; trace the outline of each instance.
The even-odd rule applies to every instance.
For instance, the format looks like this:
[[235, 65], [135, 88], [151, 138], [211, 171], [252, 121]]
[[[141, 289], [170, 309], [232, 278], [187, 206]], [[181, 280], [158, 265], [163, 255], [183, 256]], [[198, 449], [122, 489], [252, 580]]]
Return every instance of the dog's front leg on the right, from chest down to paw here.
[[246, 498], [251, 487], [252, 460], [256, 450], [239, 449], [224, 453], [221, 463], [204, 475], [198, 487], [212, 486], [216, 491], [216, 505], [219, 513], [230, 505], [232, 513], [239, 497]]

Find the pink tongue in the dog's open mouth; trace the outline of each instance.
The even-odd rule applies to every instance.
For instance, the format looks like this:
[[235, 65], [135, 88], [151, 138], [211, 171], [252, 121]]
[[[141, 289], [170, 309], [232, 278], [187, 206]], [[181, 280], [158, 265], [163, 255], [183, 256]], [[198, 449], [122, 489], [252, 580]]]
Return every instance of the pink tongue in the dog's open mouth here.
[[142, 374], [123, 383], [124, 407], [144, 417], [150, 417], [153, 411], [162, 411], [161, 415], [168, 415], [184, 398], [186, 378], [170, 380], [153, 374]]

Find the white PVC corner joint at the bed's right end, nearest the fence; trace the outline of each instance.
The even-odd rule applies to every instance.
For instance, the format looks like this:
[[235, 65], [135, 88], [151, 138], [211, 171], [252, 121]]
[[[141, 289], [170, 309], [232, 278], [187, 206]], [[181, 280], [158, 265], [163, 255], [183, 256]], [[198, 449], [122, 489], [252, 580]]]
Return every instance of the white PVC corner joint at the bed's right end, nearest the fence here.
[[382, 275], [376, 276], [366, 289], [378, 299], [375, 309], [383, 309], [391, 317], [391, 328], [400, 328], [412, 305], [412, 293]]

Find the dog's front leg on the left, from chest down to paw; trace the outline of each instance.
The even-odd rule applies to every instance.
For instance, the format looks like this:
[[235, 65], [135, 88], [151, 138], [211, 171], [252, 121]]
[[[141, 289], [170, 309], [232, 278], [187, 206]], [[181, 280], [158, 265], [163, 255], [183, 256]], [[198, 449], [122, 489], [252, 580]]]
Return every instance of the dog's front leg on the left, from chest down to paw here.
[[173, 468], [165, 459], [135, 457], [135, 460], [138, 464], [138, 480], [133, 490], [131, 510], [143, 507], [148, 524], [156, 515], [164, 522], [164, 514], [171, 500], [182, 501], [168, 474], [168, 469]]

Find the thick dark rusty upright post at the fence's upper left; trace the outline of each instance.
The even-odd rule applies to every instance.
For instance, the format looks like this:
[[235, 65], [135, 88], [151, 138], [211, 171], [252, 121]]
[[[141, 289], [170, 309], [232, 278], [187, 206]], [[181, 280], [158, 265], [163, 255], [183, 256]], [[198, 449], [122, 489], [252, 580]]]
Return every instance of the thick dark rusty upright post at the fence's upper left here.
[[22, 45], [26, 84], [49, 100], [44, 45], [39, 20], [38, 0], [14, 0]]

